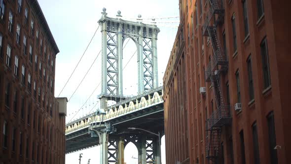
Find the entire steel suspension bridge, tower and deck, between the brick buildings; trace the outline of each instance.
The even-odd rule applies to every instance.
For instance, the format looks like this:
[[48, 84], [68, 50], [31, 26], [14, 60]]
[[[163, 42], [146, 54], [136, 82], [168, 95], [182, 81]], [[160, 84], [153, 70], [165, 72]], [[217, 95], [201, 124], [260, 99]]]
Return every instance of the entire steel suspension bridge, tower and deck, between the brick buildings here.
[[[98, 21], [102, 34], [100, 107], [66, 124], [66, 154], [100, 146], [100, 164], [123, 164], [124, 148], [138, 148], [139, 164], [161, 164], [164, 134], [163, 88], [158, 86], [157, 35], [159, 28], [111, 18], [103, 8]], [[137, 46], [138, 95], [123, 94], [123, 44], [132, 39]], [[108, 101], [116, 104], [108, 106]]]

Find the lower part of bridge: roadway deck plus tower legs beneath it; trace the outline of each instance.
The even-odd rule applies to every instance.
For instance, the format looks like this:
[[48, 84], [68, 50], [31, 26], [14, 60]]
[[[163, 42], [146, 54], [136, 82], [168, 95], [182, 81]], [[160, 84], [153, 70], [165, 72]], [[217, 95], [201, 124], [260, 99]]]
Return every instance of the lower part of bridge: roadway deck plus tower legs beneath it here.
[[[162, 96], [162, 87], [158, 87], [108, 107], [103, 116], [90, 114], [66, 124], [66, 153], [100, 145], [100, 164], [123, 164], [124, 148], [132, 142], [138, 148], [139, 164], [160, 164], [159, 138], [140, 131], [128, 131], [127, 127], [144, 123], [142, 128], [146, 128], [146, 121], [150, 121], [151, 129], [159, 130], [153, 128], [152, 123], [163, 126], [164, 122], [153, 120], [152, 115], [162, 112], [155, 117], [159, 120], [163, 117]], [[146, 116], [149, 117], [141, 119]]]

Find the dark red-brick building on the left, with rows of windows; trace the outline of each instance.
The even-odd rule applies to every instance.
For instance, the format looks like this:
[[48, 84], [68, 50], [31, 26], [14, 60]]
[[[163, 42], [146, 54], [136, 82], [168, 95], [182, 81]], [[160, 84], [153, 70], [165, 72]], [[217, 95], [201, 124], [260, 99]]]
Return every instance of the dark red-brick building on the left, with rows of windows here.
[[0, 0], [0, 164], [64, 164], [59, 49], [37, 0]]

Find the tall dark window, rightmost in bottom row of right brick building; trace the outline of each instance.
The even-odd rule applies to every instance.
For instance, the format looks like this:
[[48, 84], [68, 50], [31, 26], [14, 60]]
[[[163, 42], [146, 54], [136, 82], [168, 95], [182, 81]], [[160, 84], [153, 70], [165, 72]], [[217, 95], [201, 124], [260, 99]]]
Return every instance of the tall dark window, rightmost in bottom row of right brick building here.
[[270, 150], [270, 164], [278, 164], [276, 147], [276, 130], [273, 111], [267, 116], [268, 134], [269, 134], [269, 150]]

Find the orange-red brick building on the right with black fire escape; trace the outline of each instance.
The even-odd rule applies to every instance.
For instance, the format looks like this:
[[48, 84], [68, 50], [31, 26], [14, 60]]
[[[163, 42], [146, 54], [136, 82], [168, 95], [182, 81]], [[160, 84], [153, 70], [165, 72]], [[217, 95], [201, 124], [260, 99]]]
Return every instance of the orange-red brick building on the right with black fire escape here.
[[291, 164], [290, 2], [179, 4], [164, 76], [167, 163]]

